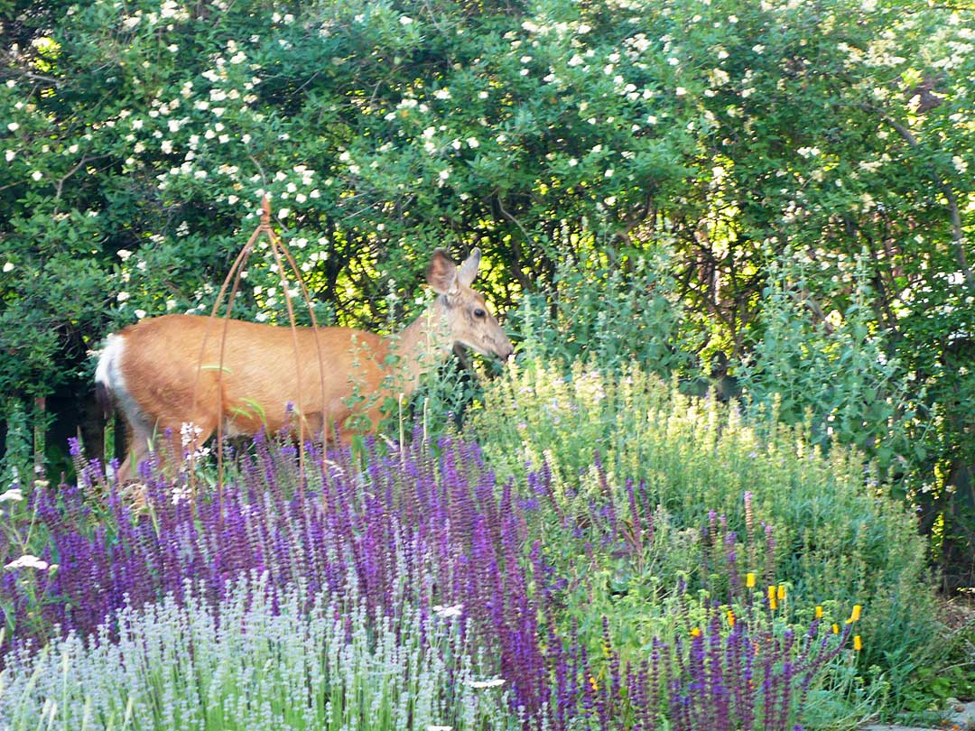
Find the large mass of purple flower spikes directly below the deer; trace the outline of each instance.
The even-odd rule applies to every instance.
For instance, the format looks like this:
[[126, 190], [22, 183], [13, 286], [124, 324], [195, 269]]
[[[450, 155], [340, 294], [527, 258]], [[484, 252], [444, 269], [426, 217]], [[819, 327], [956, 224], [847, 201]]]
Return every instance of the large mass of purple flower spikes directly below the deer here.
[[[37, 572], [29, 593], [20, 574], [30, 569], [4, 572], [0, 605], [12, 609], [16, 641], [53, 627], [89, 633], [127, 600], [178, 600], [190, 584], [217, 601], [245, 572], [266, 571], [272, 586], [303, 582], [309, 595], [353, 580], [373, 613], [461, 604], [514, 702], [541, 706], [544, 658], [519, 565], [524, 529], [510, 484], [495, 489], [476, 445], [444, 440], [439, 458], [420, 440], [365, 458], [311, 447], [301, 484], [293, 446], [256, 442], [205, 499], [175, 500], [151, 465], [139, 511], [91, 463], [80, 465], [80, 488], [35, 491], [32, 508], [50, 534], [43, 557], [59, 568]], [[102, 501], [92, 499], [99, 486]]]

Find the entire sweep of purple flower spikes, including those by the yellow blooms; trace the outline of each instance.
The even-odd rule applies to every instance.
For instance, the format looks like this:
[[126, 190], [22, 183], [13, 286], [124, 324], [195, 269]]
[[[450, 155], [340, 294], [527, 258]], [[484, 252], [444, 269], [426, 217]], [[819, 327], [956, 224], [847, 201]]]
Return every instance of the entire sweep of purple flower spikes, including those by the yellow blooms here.
[[704, 563], [729, 575], [738, 621], [715, 606], [694, 627], [684, 602], [675, 618], [681, 635], [652, 639], [645, 657], [627, 665], [604, 619], [594, 656], [574, 626], [567, 636], [559, 629], [565, 578], [547, 547], [530, 541], [528, 523], [552, 511], [579, 532], [581, 554], [642, 560], [656, 537], [650, 495], [627, 482], [619, 510], [587, 503], [582, 521], [563, 514], [547, 467], [527, 476], [519, 498], [472, 442], [444, 438], [431, 448], [417, 438], [365, 453], [309, 445], [299, 460], [293, 445], [258, 437], [223, 488], [195, 500], [177, 499], [158, 469], [143, 466], [138, 509], [98, 464], [75, 456], [78, 485], [31, 495], [30, 513], [48, 536], [42, 558], [59, 568], [8, 570], [0, 580], [17, 643], [49, 638], [56, 627], [87, 634], [125, 605], [180, 601], [190, 587], [216, 603], [244, 573], [266, 572], [276, 587], [301, 583], [307, 596], [341, 594], [355, 582], [374, 617], [408, 606], [430, 617], [438, 604], [461, 605], [464, 631], [496, 658], [530, 727], [647, 731], [667, 719], [677, 729], [785, 731], [848, 634], [847, 626], [839, 637], [821, 636], [818, 621], [800, 639], [773, 632], [768, 608], [738, 578], [734, 533], [712, 514], [702, 526]]

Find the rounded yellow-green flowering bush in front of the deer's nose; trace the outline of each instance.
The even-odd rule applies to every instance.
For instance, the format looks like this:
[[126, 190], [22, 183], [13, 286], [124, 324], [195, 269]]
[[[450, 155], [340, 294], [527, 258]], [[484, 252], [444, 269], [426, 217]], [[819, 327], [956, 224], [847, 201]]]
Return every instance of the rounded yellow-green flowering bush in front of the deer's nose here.
[[[526, 464], [551, 471], [553, 487], [543, 492], [555, 496], [555, 514], [539, 514], [529, 534], [554, 556], [592, 561], [579, 572], [603, 588], [576, 596], [577, 614], [612, 616], [618, 606], [638, 627], [652, 621], [656, 584], [676, 584], [674, 562], [687, 560], [692, 577], [696, 565], [708, 566], [700, 552], [724, 539], [695, 546], [699, 526], [720, 536], [720, 520], [746, 570], [787, 583], [797, 602], [866, 607], [862, 669], [909, 673], [933, 636], [917, 522], [882, 485], [864, 484], [867, 468], [854, 451], [838, 446], [824, 456], [800, 428], [774, 418], [747, 426], [735, 405], [689, 399], [637, 367], [617, 380], [596, 366], [577, 364], [564, 377], [559, 365], [526, 362], [492, 384], [473, 427], [500, 476], [524, 475]], [[602, 465], [592, 464], [594, 453]], [[523, 497], [534, 497], [530, 488]], [[638, 527], [633, 516], [647, 522]], [[585, 548], [603, 530], [632, 547], [635, 534], [650, 536], [656, 525], [673, 556]]]

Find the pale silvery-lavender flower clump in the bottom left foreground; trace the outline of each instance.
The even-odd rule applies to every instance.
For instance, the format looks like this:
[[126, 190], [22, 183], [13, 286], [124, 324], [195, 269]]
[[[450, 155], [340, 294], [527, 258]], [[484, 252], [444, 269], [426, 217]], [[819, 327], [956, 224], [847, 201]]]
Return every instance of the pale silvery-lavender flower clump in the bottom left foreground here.
[[503, 689], [478, 689], [463, 620], [373, 613], [354, 580], [309, 595], [254, 571], [216, 601], [196, 584], [9, 655], [4, 728], [520, 727]]

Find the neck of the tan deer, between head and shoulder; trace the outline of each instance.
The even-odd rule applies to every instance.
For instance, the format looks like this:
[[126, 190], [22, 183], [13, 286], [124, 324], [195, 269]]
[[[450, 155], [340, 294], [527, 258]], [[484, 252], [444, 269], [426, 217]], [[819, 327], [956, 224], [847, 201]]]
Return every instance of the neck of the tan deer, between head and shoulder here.
[[437, 297], [409, 326], [387, 337], [386, 365], [391, 390], [405, 397], [416, 389], [420, 378], [447, 358], [452, 340], [448, 336], [447, 305]]

